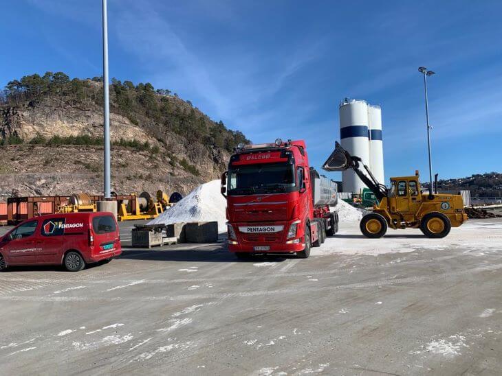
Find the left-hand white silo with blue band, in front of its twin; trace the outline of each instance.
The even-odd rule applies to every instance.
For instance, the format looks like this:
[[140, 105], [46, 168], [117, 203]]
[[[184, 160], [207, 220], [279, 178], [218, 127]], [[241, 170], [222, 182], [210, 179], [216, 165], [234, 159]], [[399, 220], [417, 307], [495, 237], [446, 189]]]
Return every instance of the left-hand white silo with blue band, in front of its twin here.
[[[353, 156], [369, 165], [368, 104], [358, 99], [345, 99], [340, 104], [340, 144]], [[348, 169], [342, 172], [343, 190], [360, 193], [366, 185]]]

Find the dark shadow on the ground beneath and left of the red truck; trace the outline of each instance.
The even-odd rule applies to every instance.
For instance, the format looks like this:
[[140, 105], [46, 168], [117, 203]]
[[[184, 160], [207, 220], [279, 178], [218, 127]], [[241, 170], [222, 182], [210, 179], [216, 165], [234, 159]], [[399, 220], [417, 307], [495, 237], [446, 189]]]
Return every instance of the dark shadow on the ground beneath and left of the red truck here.
[[252, 255], [249, 259], [237, 259], [232, 253], [228, 252], [226, 246], [219, 246], [213, 249], [165, 249], [155, 250], [134, 249], [122, 250], [122, 255], [119, 259], [133, 259], [145, 261], [204, 261], [204, 262], [260, 262], [274, 261], [282, 262], [286, 259], [294, 259], [295, 255]]

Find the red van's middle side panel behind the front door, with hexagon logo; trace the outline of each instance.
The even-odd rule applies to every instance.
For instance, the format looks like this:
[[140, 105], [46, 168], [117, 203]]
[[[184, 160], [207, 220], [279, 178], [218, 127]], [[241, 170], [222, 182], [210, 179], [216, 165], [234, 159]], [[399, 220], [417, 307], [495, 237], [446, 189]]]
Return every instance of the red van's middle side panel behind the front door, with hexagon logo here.
[[41, 226], [41, 242], [35, 255], [36, 263], [61, 263], [64, 244], [64, 218], [43, 220]]

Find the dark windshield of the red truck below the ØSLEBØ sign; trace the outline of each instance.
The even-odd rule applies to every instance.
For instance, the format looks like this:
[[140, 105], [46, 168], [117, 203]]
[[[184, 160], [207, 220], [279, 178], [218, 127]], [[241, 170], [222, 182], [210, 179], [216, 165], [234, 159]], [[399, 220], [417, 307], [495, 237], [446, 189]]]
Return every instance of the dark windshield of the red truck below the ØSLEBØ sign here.
[[268, 163], [230, 167], [228, 194], [231, 196], [283, 193], [297, 190], [294, 165]]

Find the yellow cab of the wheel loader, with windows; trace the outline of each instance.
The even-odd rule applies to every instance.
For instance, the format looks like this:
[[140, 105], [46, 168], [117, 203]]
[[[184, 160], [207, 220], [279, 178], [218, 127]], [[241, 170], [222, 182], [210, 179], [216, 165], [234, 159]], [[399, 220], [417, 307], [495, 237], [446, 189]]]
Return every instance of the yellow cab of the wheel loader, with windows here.
[[418, 176], [391, 178], [389, 190], [389, 211], [391, 213], [416, 213], [422, 203], [422, 192]]

